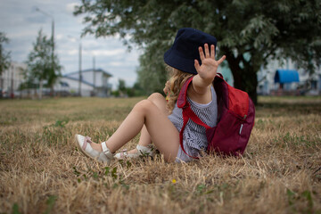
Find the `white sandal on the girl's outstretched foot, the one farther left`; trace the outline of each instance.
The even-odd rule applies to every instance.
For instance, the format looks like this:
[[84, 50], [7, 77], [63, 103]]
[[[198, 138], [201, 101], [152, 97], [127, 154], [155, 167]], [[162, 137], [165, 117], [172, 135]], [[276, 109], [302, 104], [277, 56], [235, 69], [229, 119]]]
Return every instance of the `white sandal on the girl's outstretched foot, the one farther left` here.
[[98, 152], [91, 147], [91, 138], [89, 136], [76, 135], [76, 143], [80, 152], [84, 153], [86, 157], [102, 162], [110, 163], [113, 159], [113, 154], [107, 148], [106, 142], [102, 143], [103, 152]]

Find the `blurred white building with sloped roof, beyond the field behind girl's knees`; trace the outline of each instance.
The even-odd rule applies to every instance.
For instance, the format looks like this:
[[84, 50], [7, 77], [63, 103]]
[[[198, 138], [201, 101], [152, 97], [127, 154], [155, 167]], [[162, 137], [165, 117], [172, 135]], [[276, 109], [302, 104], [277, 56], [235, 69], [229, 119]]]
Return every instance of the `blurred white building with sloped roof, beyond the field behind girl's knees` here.
[[[105, 70], [82, 70], [80, 89], [81, 96], [111, 95], [111, 84], [108, 82], [111, 74]], [[79, 71], [68, 73], [62, 76], [54, 86], [55, 91], [68, 91], [71, 95], [78, 95]]]

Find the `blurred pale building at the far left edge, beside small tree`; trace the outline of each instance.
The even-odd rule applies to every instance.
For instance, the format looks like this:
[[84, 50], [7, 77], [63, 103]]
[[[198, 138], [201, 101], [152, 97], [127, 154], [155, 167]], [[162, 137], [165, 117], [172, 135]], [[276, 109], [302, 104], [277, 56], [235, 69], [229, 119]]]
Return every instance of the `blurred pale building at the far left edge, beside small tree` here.
[[25, 63], [12, 62], [9, 69], [0, 75], [0, 97], [14, 97], [20, 95], [19, 87], [24, 81], [23, 70]]

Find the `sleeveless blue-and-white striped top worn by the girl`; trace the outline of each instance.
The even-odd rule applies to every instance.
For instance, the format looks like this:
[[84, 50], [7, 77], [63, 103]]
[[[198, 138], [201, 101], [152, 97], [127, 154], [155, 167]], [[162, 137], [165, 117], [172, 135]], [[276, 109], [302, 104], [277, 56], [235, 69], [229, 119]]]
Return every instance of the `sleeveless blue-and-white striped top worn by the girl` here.
[[[201, 104], [193, 102], [188, 96], [187, 101], [191, 105], [193, 112], [201, 119], [206, 125], [215, 127], [218, 118], [218, 103], [217, 95], [213, 86], [210, 86], [212, 100], [210, 103]], [[177, 103], [173, 112], [169, 115], [169, 120], [174, 126], [180, 130], [183, 127], [183, 114], [182, 109], [177, 107]], [[185, 151], [191, 156], [199, 156], [201, 151], [206, 151], [208, 141], [206, 138], [206, 128], [194, 123], [189, 119], [183, 133], [183, 144]]]

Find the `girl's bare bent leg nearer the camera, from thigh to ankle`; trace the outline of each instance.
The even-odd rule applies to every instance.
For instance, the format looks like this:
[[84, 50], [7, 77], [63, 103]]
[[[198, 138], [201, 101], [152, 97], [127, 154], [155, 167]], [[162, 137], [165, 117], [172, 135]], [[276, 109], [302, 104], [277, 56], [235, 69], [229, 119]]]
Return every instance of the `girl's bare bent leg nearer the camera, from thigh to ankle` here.
[[[164, 102], [166, 102], [165, 99]], [[117, 131], [107, 140], [107, 147], [111, 152], [117, 151], [135, 137], [144, 126], [165, 160], [175, 161], [179, 147], [178, 130], [168, 119], [167, 114], [151, 100], [144, 100], [135, 105]]]

